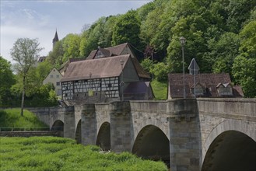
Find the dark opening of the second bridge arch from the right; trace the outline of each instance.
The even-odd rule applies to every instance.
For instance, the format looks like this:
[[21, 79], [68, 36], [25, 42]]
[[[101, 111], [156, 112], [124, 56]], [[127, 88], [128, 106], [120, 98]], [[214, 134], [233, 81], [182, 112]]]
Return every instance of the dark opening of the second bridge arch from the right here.
[[170, 141], [159, 127], [152, 124], [139, 131], [132, 153], [144, 159], [162, 160], [170, 166]]

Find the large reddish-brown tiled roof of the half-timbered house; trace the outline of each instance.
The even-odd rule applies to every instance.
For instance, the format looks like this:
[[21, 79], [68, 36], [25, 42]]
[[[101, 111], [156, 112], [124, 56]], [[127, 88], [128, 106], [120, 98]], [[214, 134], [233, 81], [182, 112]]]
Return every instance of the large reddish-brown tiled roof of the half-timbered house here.
[[[120, 61], [124, 61], [125, 65], [129, 58], [131, 58], [130, 54], [125, 54], [112, 58], [73, 61], [68, 65], [61, 82], [119, 76], [121, 75]], [[92, 73], [91, 77], [89, 73]]]

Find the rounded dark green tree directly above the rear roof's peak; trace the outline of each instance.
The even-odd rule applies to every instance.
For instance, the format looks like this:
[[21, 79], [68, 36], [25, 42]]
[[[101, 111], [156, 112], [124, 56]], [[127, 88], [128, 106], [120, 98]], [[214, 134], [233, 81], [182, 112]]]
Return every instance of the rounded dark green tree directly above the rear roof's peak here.
[[130, 10], [117, 19], [112, 35], [112, 45], [126, 42], [140, 47], [140, 21], [136, 11]]

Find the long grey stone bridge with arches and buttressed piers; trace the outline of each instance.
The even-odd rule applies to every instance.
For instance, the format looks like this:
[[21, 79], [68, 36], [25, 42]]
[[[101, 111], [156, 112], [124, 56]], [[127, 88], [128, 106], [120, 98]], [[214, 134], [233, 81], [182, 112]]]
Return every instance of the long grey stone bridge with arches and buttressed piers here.
[[162, 160], [172, 171], [256, 170], [256, 99], [172, 99], [30, 109], [64, 137]]

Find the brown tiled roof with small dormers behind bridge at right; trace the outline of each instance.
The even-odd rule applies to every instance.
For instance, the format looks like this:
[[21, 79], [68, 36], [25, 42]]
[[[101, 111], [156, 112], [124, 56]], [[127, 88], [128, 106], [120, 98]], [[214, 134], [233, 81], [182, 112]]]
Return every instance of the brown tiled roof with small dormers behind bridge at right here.
[[[169, 74], [169, 93], [171, 98], [181, 98], [183, 97], [183, 75], [182, 74]], [[218, 97], [217, 86], [220, 84], [231, 83], [229, 74], [200, 74], [195, 75], [195, 82], [200, 83], [200, 85], [207, 89], [205, 96]], [[191, 88], [194, 87], [194, 75], [185, 74], [185, 91], [187, 97], [193, 97], [191, 94]], [[236, 93], [233, 96], [239, 97], [244, 96], [241, 89], [237, 86], [233, 87]]]

